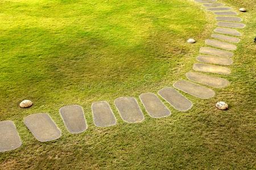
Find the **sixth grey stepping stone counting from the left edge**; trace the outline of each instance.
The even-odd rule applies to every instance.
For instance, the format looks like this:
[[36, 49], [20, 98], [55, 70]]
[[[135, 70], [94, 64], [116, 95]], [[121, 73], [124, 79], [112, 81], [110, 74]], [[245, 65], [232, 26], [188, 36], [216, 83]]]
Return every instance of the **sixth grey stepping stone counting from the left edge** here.
[[171, 114], [171, 112], [155, 94], [144, 93], [139, 95], [139, 99], [141, 99], [142, 104], [150, 117], [162, 118]]

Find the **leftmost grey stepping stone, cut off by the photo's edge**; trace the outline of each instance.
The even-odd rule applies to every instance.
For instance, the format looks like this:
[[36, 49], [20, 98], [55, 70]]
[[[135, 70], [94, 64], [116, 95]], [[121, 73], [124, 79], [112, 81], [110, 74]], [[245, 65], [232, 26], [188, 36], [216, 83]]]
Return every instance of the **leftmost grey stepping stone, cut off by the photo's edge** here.
[[15, 150], [22, 142], [12, 121], [0, 121], [0, 152]]

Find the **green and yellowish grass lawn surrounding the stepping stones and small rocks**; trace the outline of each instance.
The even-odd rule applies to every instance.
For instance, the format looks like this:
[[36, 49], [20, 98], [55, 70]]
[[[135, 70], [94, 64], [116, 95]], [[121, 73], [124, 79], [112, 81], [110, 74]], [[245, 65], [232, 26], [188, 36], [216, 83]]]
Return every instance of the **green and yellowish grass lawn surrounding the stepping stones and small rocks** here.
[[[209, 100], [181, 92], [193, 102], [188, 112], [166, 104], [171, 116], [154, 119], [143, 110], [143, 122], [127, 124], [114, 99], [138, 99], [185, 79], [216, 27], [211, 12], [183, 0], [0, 1], [0, 121], [14, 121], [23, 142], [0, 153], [0, 169], [256, 168], [256, 3], [222, 2], [248, 10], [240, 15], [247, 26], [239, 30], [232, 74], [216, 75], [231, 85]], [[19, 108], [24, 99], [34, 105]], [[117, 125], [93, 125], [90, 105], [100, 100], [110, 103]], [[214, 107], [220, 100], [228, 111]], [[65, 129], [59, 108], [68, 104], [84, 108], [84, 133]], [[32, 113], [49, 113], [62, 137], [36, 141], [23, 124]]]

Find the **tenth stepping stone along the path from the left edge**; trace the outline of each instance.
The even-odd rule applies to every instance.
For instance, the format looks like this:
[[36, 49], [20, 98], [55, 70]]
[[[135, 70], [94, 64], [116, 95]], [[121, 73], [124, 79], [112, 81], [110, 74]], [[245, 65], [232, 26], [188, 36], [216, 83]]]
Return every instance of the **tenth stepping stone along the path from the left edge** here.
[[230, 74], [231, 71], [227, 67], [209, 65], [205, 63], [194, 63], [193, 69], [205, 73]]

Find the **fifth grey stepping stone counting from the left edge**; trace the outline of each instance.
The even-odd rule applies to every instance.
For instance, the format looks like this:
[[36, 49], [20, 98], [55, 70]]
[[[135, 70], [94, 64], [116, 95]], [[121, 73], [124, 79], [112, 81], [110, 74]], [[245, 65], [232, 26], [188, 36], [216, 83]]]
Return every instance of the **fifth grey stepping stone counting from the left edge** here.
[[115, 106], [125, 122], [135, 123], [144, 120], [144, 115], [134, 97], [118, 97], [115, 99]]

